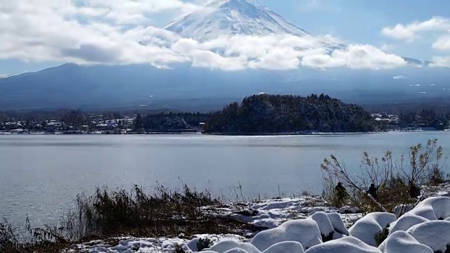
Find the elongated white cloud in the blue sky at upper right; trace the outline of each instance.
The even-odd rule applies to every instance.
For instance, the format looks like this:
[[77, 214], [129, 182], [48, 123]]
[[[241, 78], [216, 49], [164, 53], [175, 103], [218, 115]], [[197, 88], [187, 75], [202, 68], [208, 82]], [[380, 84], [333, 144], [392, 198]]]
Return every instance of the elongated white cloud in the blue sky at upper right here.
[[450, 20], [442, 17], [432, 17], [423, 22], [412, 22], [408, 25], [397, 24], [394, 27], [385, 27], [381, 31], [385, 36], [393, 39], [413, 41], [422, 32], [442, 32], [450, 29]]

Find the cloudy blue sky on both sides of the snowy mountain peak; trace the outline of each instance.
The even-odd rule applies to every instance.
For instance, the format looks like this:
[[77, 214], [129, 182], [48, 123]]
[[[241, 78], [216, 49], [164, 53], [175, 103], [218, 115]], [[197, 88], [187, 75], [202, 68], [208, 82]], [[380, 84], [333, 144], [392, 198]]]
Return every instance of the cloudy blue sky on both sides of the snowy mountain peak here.
[[[91, 60], [97, 56], [101, 56], [101, 63], [106, 64], [158, 65], [161, 62], [168, 64], [183, 61], [185, 58], [190, 58], [192, 62], [215, 60], [211, 64], [218, 66], [236, 64], [235, 58], [212, 56], [210, 51], [195, 56], [193, 51], [184, 51], [180, 55], [179, 52], [167, 51], [167, 48], [144, 48], [138, 44], [139, 39], [148, 36], [149, 31], [150, 34], [164, 34], [158, 31], [158, 27], [179, 15], [197, 11], [205, 1], [136, 0], [139, 6], [127, 0], [61, 0], [56, 5], [56, 1], [51, 0], [6, 1], [7, 4], [0, 6], [0, 41], [3, 41], [3, 45], [0, 45], [0, 75], [37, 71], [63, 63], [98, 63]], [[321, 55], [309, 60], [309, 63], [320, 63], [316, 67], [354, 67], [353, 63], [349, 63], [352, 61], [349, 60], [352, 50], [364, 51], [366, 56], [377, 58], [377, 62], [380, 62], [380, 58], [386, 63], [398, 61], [398, 58], [393, 58], [395, 55], [435, 60], [441, 66], [450, 66], [448, 0], [257, 2], [314, 35], [331, 36], [356, 46], [356, 49], [337, 52], [333, 59], [317, 48]], [[170, 34], [164, 36], [173, 37]], [[176, 42], [180, 41], [172, 39], [171, 43], [173, 45]], [[383, 55], [371, 46], [389, 55]], [[281, 49], [290, 52], [285, 51], [288, 48]], [[195, 50], [198, 52], [199, 48]], [[342, 57], [334, 58], [338, 56]], [[264, 57], [266, 59], [269, 56]], [[331, 60], [333, 63], [329, 62]], [[293, 65], [288, 68], [295, 67], [295, 64], [297, 67], [302, 65], [302, 61], [297, 62], [295, 59], [290, 59], [290, 62]], [[210, 62], [203, 65], [208, 64]], [[243, 63], [243, 67], [248, 66]]]

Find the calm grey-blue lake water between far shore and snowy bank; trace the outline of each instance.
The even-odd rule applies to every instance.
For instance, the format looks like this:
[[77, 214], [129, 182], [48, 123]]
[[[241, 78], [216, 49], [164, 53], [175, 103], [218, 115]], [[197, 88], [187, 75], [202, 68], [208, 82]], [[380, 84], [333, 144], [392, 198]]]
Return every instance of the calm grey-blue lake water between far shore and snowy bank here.
[[[153, 190], [183, 183], [213, 195], [245, 197], [321, 192], [323, 158], [357, 173], [364, 151], [397, 157], [438, 138], [449, 153], [450, 131], [331, 136], [65, 136], [0, 135], [0, 219], [49, 223], [77, 193], [96, 186]], [[232, 198], [232, 197], [231, 197]]]

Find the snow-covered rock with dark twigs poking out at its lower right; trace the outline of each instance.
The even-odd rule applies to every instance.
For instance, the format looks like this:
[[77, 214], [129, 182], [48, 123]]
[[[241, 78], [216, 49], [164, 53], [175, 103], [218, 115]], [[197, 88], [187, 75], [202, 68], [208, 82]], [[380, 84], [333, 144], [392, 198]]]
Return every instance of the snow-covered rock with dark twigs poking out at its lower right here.
[[349, 229], [350, 235], [371, 246], [378, 246], [375, 242], [375, 233], [383, 231], [386, 225], [396, 221], [394, 214], [384, 212], [374, 212], [367, 214], [363, 218], [356, 221]]

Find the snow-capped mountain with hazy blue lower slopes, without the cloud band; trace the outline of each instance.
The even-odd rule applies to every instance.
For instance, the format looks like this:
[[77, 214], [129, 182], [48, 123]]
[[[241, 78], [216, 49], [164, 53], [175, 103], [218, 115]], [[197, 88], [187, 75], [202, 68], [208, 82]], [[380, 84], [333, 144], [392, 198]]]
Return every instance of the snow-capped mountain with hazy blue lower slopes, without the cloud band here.
[[[280, 15], [249, 0], [214, 1], [169, 22], [164, 30], [197, 43], [218, 37], [292, 35], [316, 39]], [[154, 38], [152, 38], [154, 39]], [[169, 48], [170, 41], [158, 38]], [[140, 42], [146, 44], [145, 41]], [[321, 39], [328, 53], [345, 44]], [[147, 64], [75, 65], [0, 79], [0, 110], [58, 108], [174, 108], [212, 110], [255, 93], [328, 93], [354, 103], [401, 103], [449, 98], [450, 72], [430, 62], [403, 58], [404, 67], [388, 70], [316, 70], [245, 68], [224, 71], [176, 63], [167, 68]], [[394, 78], [402, 77], [402, 78]], [[141, 108], [141, 107], [139, 107]]]

